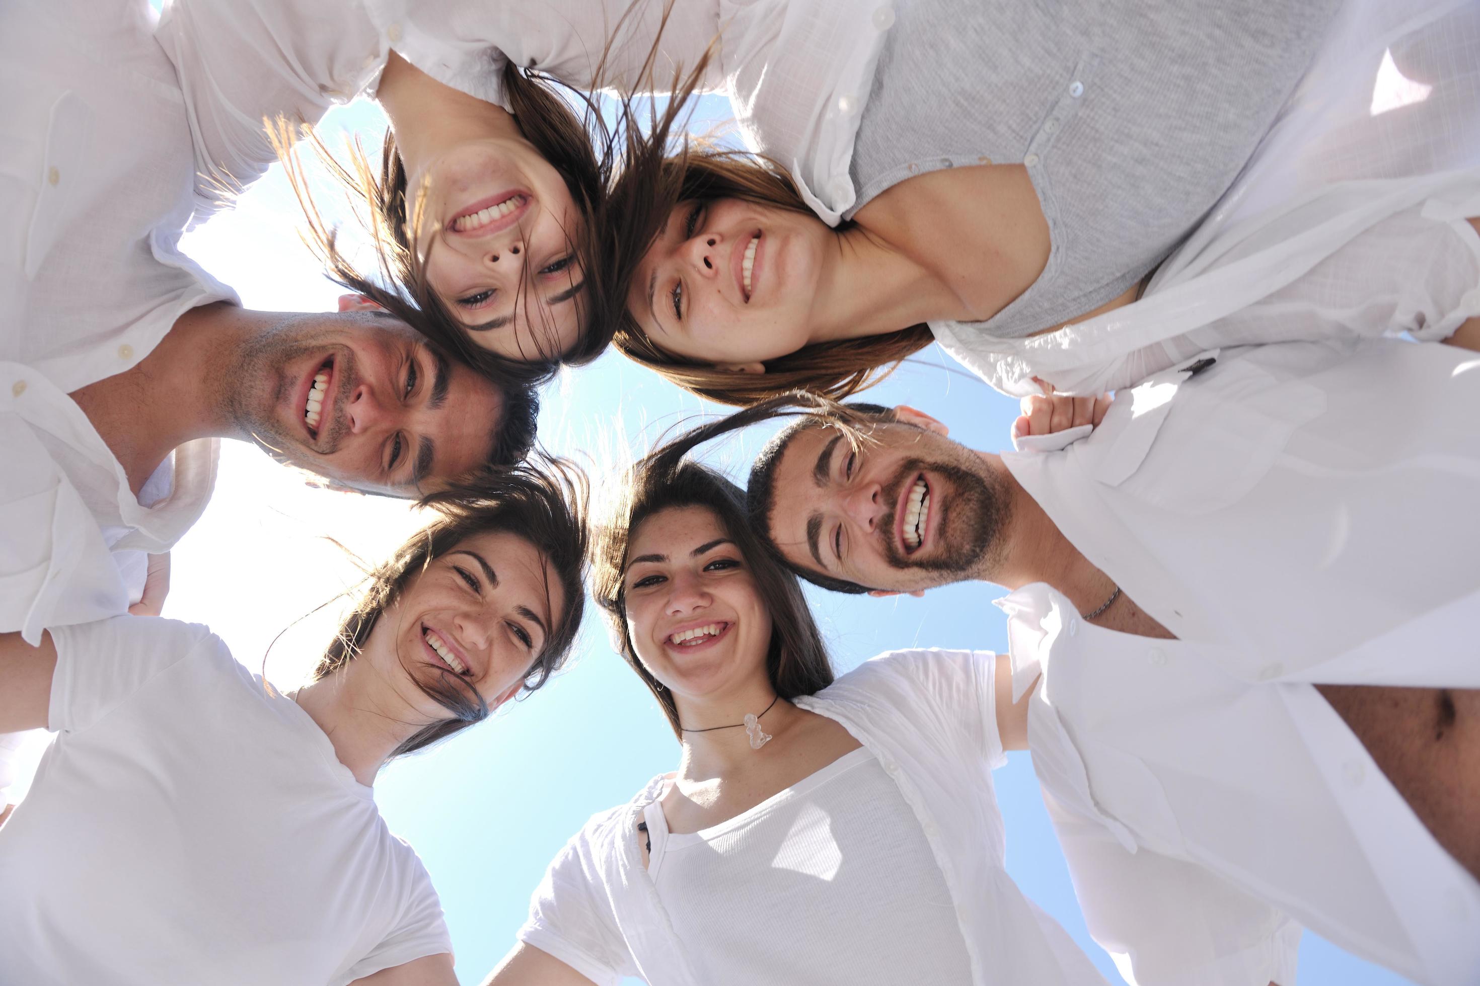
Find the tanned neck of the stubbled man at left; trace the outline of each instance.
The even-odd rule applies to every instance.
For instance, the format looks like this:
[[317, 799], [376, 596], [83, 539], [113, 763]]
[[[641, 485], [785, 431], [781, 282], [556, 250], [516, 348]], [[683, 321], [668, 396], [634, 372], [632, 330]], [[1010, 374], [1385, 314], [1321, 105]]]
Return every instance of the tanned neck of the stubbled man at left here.
[[179, 445], [246, 438], [226, 411], [234, 355], [252, 334], [280, 319], [225, 302], [194, 307], [132, 370], [73, 392], [135, 495]]

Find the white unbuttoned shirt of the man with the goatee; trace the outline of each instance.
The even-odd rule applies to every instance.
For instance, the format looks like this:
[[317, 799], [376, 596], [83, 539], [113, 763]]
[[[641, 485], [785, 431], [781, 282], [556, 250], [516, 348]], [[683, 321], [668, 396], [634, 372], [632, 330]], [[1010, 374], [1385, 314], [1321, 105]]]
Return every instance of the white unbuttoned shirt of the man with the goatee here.
[[1100, 630], [1045, 585], [1003, 600], [1014, 692], [1045, 674], [1030, 748], [1091, 933], [1143, 986], [1286, 982], [1283, 915], [1415, 982], [1474, 983], [1480, 883], [1308, 683], [1480, 687], [1480, 358], [1211, 355], [1063, 452], [1003, 455], [1177, 636]]

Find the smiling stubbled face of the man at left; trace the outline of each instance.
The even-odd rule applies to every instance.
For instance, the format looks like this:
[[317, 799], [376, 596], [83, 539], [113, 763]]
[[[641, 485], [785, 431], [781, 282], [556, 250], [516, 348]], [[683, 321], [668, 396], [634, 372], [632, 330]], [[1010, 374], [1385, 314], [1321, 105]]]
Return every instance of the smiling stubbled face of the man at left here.
[[503, 396], [383, 315], [289, 318], [232, 370], [228, 412], [268, 452], [357, 489], [416, 497], [481, 466]]

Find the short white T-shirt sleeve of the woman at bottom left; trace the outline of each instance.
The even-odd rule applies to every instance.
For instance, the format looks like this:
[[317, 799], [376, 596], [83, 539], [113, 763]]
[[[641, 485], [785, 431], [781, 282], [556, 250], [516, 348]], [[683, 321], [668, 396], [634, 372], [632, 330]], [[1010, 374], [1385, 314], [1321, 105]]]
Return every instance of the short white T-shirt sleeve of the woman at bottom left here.
[[158, 616], [114, 616], [53, 627], [56, 671], [46, 727], [87, 729], [181, 661], [207, 652], [231, 661], [226, 645], [200, 624]]

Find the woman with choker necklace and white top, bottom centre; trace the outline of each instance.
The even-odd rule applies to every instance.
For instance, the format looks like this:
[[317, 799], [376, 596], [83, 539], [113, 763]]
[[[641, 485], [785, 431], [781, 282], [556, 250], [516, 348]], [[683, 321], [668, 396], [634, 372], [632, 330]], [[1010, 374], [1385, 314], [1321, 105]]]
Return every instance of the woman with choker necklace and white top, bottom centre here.
[[595, 541], [595, 597], [679, 764], [570, 840], [493, 986], [1104, 983], [1003, 869], [990, 767], [1027, 708], [1005, 656], [835, 680], [741, 491], [672, 452]]

